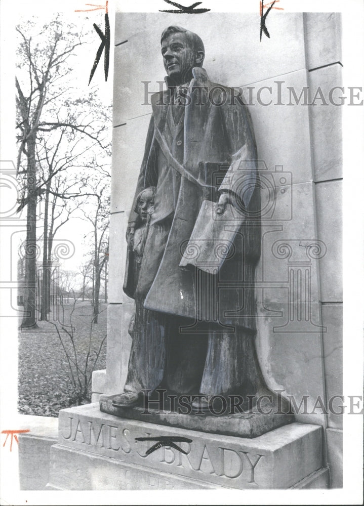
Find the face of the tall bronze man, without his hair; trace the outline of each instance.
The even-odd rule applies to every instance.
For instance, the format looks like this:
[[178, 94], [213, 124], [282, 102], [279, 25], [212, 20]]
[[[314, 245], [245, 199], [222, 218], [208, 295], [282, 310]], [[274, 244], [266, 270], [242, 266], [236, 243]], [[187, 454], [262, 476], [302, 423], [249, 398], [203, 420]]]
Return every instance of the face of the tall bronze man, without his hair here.
[[177, 83], [194, 67], [195, 54], [184, 33], [171, 33], [161, 44], [167, 74]]

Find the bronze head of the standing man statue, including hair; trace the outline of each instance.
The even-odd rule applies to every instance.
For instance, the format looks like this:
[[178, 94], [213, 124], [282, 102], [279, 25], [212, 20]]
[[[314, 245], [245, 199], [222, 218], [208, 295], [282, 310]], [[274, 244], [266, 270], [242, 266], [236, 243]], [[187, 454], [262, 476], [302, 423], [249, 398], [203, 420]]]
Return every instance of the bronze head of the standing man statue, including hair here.
[[180, 26], [169, 26], [160, 38], [161, 53], [167, 74], [182, 84], [190, 78], [193, 67], [202, 67], [204, 43], [200, 37]]

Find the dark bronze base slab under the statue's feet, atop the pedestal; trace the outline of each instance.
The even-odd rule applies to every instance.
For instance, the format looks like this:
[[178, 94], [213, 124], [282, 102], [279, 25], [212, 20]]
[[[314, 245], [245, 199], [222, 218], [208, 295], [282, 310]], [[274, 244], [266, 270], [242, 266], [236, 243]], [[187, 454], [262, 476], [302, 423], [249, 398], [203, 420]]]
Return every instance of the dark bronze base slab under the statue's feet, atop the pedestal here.
[[100, 410], [122, 418], [146, 421], [151, 424], [168, 425], [169, 427], [226, 436], [256, 438], [295, 421], [294, 415], [287, 413], [289, 406], [285, 399], [274, 399], [273, 402], [266, 400], [264, 404], [261, 403], [259, 410], [255, 406], [248, 412], [234, 413], [234, 410], [232, 410], [233, 414], [228, 414], [231, 409], [229, 408], [225, 409], [222, 414], [218, 414], [222, 411], [221, 409], [216, 409], [213, 412], [211, 410], [207, 412], [200, 410], [198, 412], [198, 409], [191, 409], [189, 405], [180, 407], [179, 411], [178, 409], [170, 411], [151, 407], [158, 404], [157, 401], [153, 401], [149, 403], [150, 405], [144, 407], [115, 407], [112, 405], [115, 397], [117, 396], [101, 395]]

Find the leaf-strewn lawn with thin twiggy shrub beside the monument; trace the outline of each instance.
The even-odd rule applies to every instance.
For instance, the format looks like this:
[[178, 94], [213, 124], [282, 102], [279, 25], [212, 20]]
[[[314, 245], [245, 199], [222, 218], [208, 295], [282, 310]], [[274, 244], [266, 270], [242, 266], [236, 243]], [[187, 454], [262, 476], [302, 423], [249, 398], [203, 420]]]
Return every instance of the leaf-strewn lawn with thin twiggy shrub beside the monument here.
[[[59, 307], [58, 321], [55, 321], [57, 318], [52, 308], [53, 312], [49, 315], [50, 321], [38, 321], [38, 328], [33, 330], [19, 330], [18, 409], [20, 413], [58, 416], [58, 411], [62, 408], [91, 402], [91, 379], [84, 400], [77, 396], [72, 386], [70, 368], [61, 339], [71, 360], [73, 376], [79, 387], [75, 362], [77, 362], [81, 383], [85, 383], [81, 371], [85, 372], [88, 353], [86, 381], [93, 370], [106, 367], [106, 339], [102, 344], [96, 364], [95, 360], [106, 335], [107, 305], [100, 304], [98, 323], [92, 325], [90, 339], [93, 313], [90, 301], [77, 301], [74, 307], [73, 302], [70, 299], [69, 304], [64, 305], [63, 308]], [[72, 340], [67, 332], [62, 330], [62, 322], [64, 322], [65, 328], [72, 334], [70, 320], [73, 327], [76, 360]], [[51, 323], [52, 321], [54, 324]], [[57, 333], [57, 328], [60, 335]]]

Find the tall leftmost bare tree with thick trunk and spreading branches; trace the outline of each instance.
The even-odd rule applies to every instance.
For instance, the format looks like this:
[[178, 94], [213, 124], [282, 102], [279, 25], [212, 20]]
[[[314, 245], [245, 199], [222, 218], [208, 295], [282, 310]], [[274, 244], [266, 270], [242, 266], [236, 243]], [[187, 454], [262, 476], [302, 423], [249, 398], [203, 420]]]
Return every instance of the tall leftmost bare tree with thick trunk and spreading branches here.
[[[108, 124], [107, 121], [97, 123], [92, 114], [85, 113], [90, 105], [90, 96], [72, 99], [69, 94], [66, 79], [72, 70], [70, 57], [83, 43], [83, 35], [74, 26], [62, 23], [60, 17], [44, 25], [33, 38], [35, 29], [36, 23], [30, 21], [17, 27], [20, 38], [16, 78], [19, 130], [17, 171], [22, 193], [18, 210], [27, 206], [25, 316], [22, 327], [36, 325], [37, 201], [42, 194], [51, 191], [49, 180], [39, 181], [38, 178], [38, 145], [60, 131], [61, 138], [65, 132], [71, 132], [73, 136], [88, 138], [92, 145], [104, 148], [102, 136]], [[52, 172], [50, 179], [55, 174], [57, 170]], [[44, 253], [44, 258], [48, 256], [48, 252]]]

